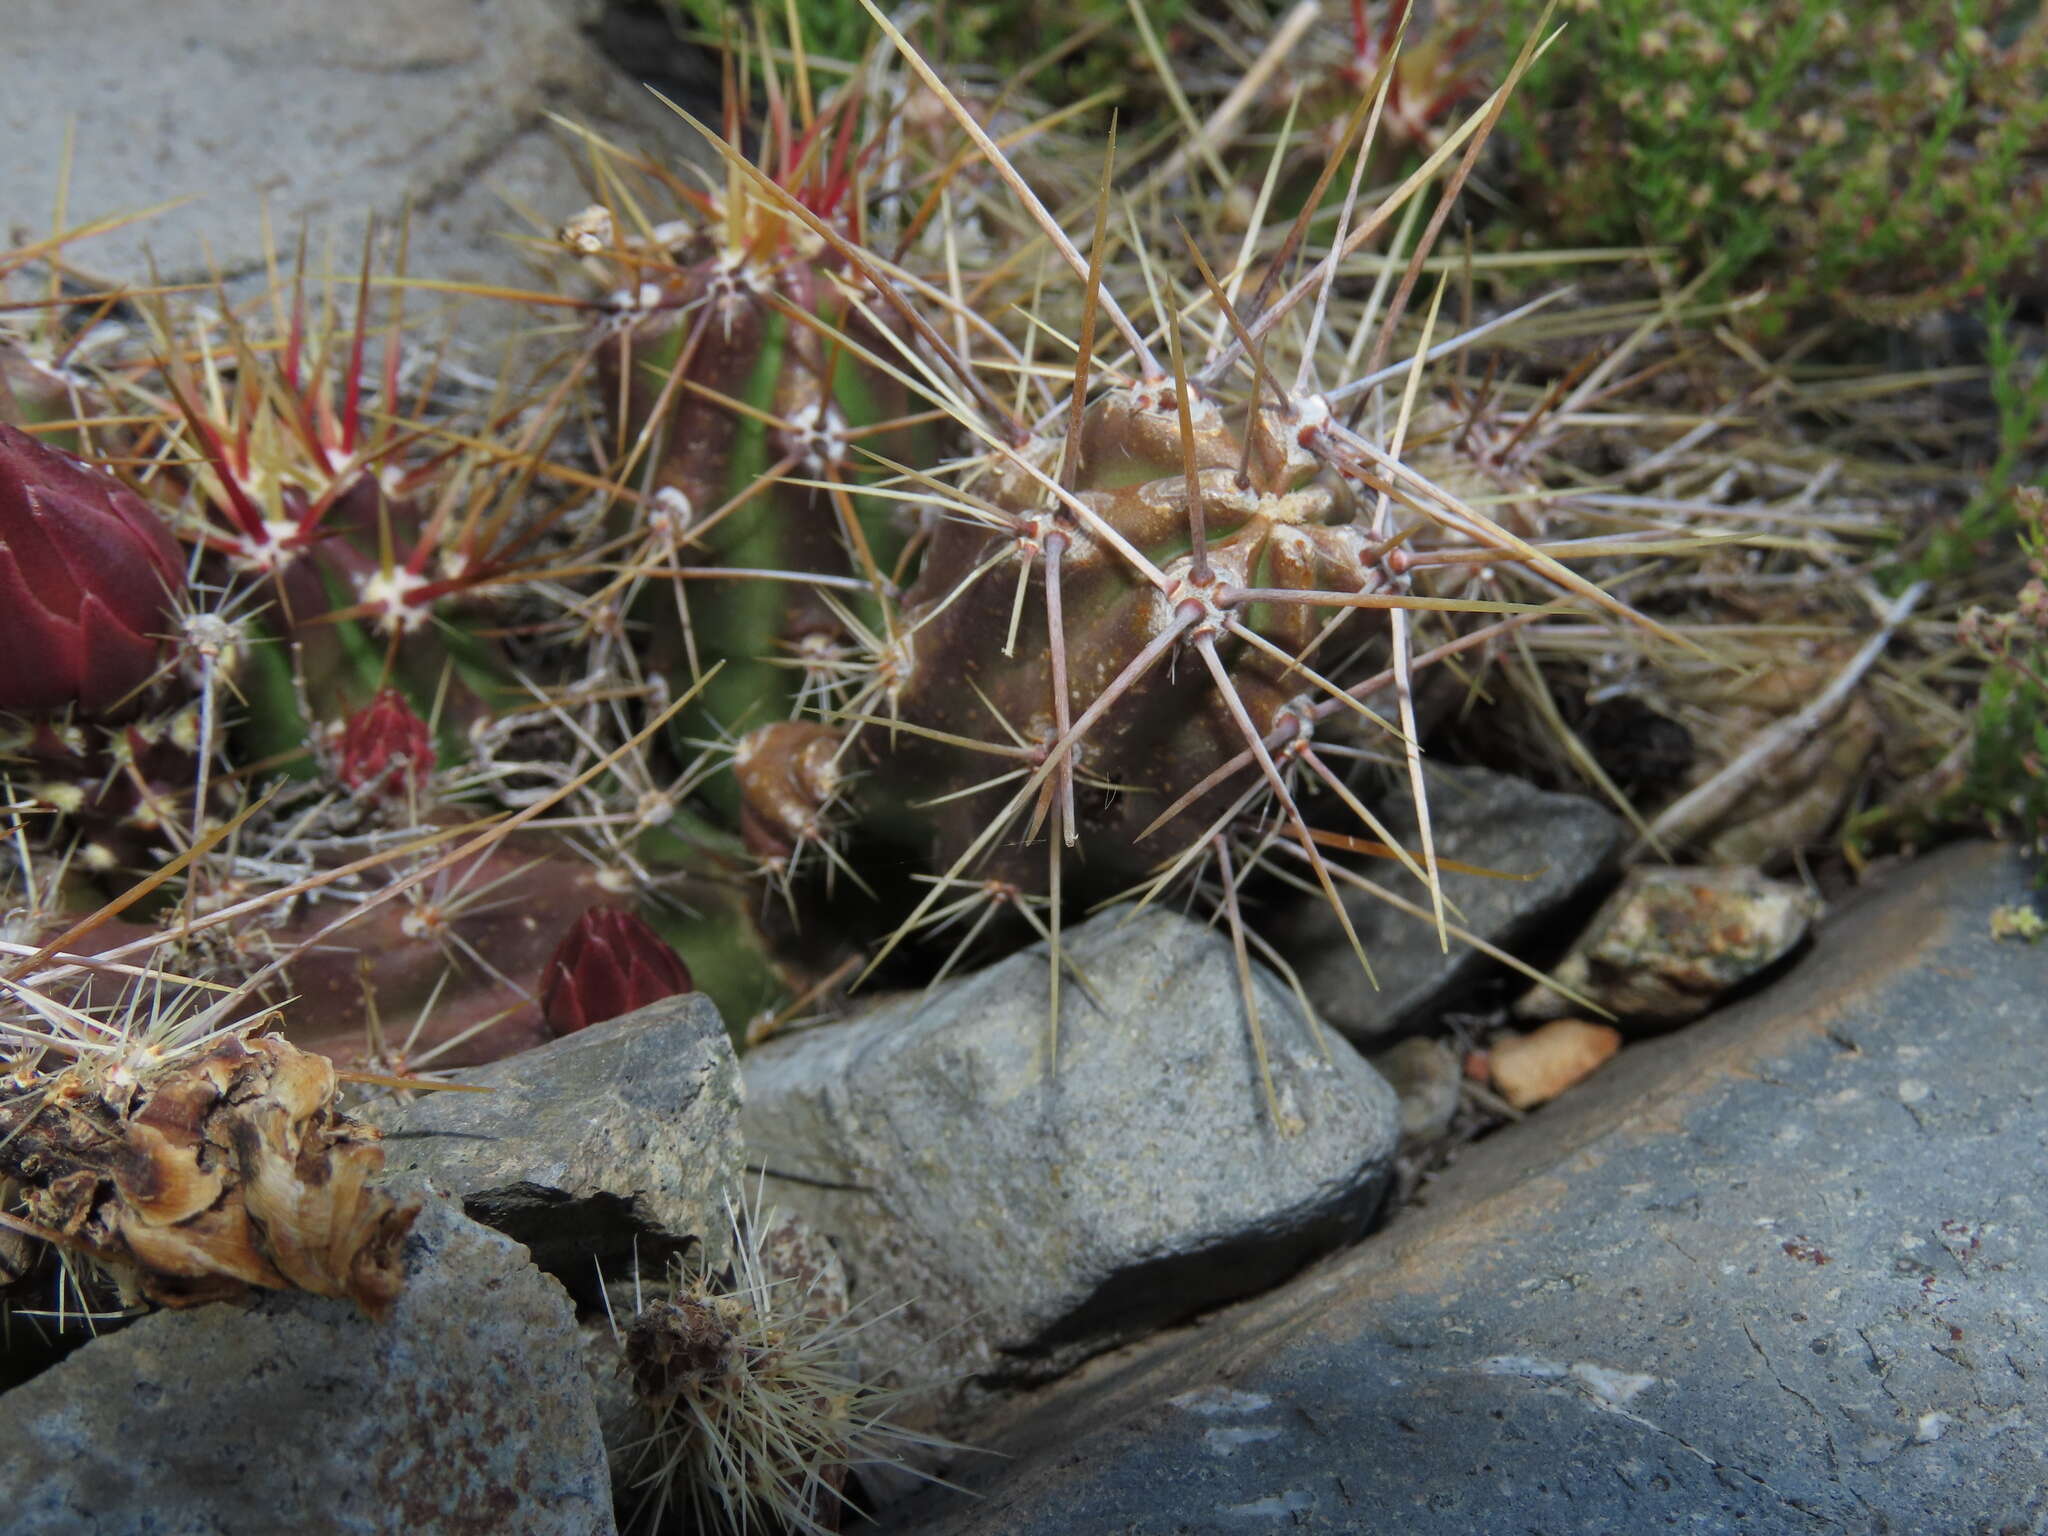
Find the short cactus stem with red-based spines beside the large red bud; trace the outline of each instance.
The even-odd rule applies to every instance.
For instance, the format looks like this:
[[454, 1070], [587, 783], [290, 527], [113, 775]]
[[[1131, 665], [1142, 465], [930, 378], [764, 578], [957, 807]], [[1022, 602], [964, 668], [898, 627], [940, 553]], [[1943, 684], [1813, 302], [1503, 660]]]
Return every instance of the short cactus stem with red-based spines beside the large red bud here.
[[[147, 489], [176, 508], [203, 623], [233, 635], [231, 680], [260, 700], [238, 723], [246, 758], [297, 758], [315, 721], [393, 688], [459, 758], [461, 733], [514, 694], [489, 594], [547, 573], [530, 551], [561, 504], [526, 504], [518, 438], [471, 449], [410, 426], [401, 317], [373, 391], [369, 281], [367, 252], [354, 322], [315, 324], [295, 276], [268, 338], [158, 311], [160, 385], [133, 387], [176, 463]], [[524, 430], [545, 432], [545, 412]]]

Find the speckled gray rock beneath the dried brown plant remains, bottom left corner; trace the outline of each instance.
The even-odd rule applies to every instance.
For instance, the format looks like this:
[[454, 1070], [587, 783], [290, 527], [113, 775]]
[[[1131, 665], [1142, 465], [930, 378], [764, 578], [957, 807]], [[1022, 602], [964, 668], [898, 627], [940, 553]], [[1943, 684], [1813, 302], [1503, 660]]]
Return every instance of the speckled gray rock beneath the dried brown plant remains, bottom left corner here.
[[10, 1536], [602, 1536], [561, 1286], [428, 1202], [383, 1323], [297, 1292], [154, 1313], [0, 1397]]

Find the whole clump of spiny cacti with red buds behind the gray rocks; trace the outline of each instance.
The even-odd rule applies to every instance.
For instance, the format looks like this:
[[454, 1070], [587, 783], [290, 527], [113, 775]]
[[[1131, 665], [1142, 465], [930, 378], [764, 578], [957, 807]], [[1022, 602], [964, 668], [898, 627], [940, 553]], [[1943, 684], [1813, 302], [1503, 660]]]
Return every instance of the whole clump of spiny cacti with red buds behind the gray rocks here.
[[[578, 336], [530, 389], [422, 360], [373, 254], [268, 317], [156, 297], [145, 346], [66, 375], [70, 420], [6, 375], [82, 455], [0, 426], [0, 625], [49, 657], [0, 676], [25, 1094], [270, 1028], [412, 1092], [692, 983], [760, 1038], [1028, 938], [1057, 1042], [1061, 932], [1114, 897], [1210, 911], [1247, 999], [1296, 891], [1456, 936], [1440, 721], [1540, 721], [1626, 801], [1593, 713], [1681, 713], [1722, 659], [1683, 584], [1755, 573], [1700, 555], [1772, 483], [1749, 440], [1714, 457], [1761, 387], [1686, 336], [1724, 309], [1573, 330], [1483, 254], [1446, 270], [1503, 94], [1452, 121], [1448, 53], [1401, 74], [1364, 8], [1303, 55], [1341, 111], [1219, 82], [1192, 139], [1128, 152], [1128, 203], [1106, 123], [1044, 154], [1102, 166], [1075, 199], [1024, 160], [1063, 117], [870, 20], [844, 78], [731, 63], [709, 190], [588, 141], [530, 295]], [[0, 358], [55, 367], [43, 340]], [[1704, 403], [1616, 408], [1659, 375]], [[104, 547], [61, 582], [23, 565], [59, 502], [51, 559]]]

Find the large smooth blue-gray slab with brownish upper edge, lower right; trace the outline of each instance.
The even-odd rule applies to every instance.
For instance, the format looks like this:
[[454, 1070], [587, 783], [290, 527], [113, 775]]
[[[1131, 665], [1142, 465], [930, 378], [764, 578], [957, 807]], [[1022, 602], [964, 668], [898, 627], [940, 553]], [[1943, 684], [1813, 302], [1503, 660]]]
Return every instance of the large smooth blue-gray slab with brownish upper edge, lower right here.
[[1286, 1288], [967, 1434], [899, 1536], [2048, 1528], [2028, 872], [1952, 848]]

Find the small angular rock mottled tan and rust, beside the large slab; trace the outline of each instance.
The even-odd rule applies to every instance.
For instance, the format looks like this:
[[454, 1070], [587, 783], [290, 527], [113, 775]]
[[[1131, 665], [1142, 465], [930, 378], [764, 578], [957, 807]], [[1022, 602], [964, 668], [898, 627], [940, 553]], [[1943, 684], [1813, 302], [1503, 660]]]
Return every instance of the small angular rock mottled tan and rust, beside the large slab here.
[[[1806, 887], [1753, 868], [1640, 864], [1593, 915], [1571, 954], [1550, 969], [1550, 979], [1624, 1024], [1683, 1024], [1731, 987], [1778, 965], [1819, 915], [1821, 901]], [[1577, 1012], [1583, 1004], [1546, 985], [1516, 1001], [1522, 1018]]]

